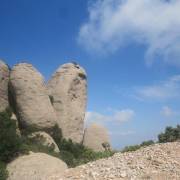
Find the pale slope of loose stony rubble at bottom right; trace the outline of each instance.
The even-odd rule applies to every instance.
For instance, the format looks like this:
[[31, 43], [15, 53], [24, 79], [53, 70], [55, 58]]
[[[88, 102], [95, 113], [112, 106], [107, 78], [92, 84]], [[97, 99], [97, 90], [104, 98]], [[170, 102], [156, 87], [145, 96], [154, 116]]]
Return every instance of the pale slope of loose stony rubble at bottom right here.
[[155, 144], [135, 152], [116, 153], [74, 169], [51, 180], [178, 180], [180, 142]]

